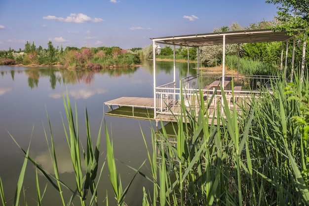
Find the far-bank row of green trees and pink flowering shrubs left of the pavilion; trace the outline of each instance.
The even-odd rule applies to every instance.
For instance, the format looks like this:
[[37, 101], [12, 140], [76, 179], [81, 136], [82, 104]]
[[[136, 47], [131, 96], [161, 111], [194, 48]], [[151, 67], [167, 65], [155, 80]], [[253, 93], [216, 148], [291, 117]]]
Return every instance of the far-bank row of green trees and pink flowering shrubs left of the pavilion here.
[[68, 69], [102, 69], [110, 67], [131, 67], [141, 62], [142, 48], [124, 50], [120, 47], [69, 47], [55, 48], [49, 41], [47, 48], [37, 47], [35, 42], [26, 42], [25, 48], [15, 51], [0, 51], [0, 65], [64, 66]]

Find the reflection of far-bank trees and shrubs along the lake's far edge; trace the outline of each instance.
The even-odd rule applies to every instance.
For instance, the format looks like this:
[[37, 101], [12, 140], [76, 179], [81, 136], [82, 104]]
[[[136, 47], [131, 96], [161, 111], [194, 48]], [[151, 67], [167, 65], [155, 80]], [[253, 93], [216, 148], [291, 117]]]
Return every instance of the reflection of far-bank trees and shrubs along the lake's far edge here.
[[[173, 62], [168, 61], [157, 61], [156, 62], [157, 72], [165, 72], [165, 74], [173, 73]], [[144, 63], [144, 67], [148, 69], [150, 74], [153, 74], [153, 62], [147, 61]], [[195, 63], [190, 63], [190, 68], [196, 67]], [[3, 69], [4, 68], [4, 69]], [[181, 77], [185, 77], [188, 74], [187, 64], [176, 62], [176, 68], [179, 70]], [[24, 72], [28, 76], [28, 86], [31, 89], [39, 87], [40, 77], [49, 77], [50, 87], [54, 90], [57, 83], [59, 85], [65, 84], [78, 84], [83, 83], [87, 85], [93, 84], [95, 75], [97, 74], [108, 74], [111, 77], [120, 77], [122, 75], [134, 74], [137, 71], [137, 67], [134, 68], [117, 68], [117, 69], [102, 69], [100, 71], [83, 71], [83, 70], [68, 70], [63, 68], [55, 67], [31, 67], [31, 68], [19, 68], [19, 67], [1, 67], [0, 73], [2, 77], [10, 75], [14, 81], [15, 73]], [[196, 73], [195, 69], [189, 71], [190, 75]]]

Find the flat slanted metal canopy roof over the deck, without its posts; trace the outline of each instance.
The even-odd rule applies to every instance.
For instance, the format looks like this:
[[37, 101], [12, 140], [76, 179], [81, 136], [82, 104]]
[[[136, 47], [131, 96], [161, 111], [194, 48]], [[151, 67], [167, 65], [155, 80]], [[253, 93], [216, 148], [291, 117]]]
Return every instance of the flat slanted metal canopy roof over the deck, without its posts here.
[[[298, 33], [295, 33], [294, 35], [297, 34]], [[244, 30], [236, 32], [156, 37], [151, 39], [156, 43], [198, 47], [223, 44], [223, 36], [225, 36], [225, 44], [286, 41], [293, 38], [293, 36], [287, 35], [286, 32], [273, 32], [272, 30]]]

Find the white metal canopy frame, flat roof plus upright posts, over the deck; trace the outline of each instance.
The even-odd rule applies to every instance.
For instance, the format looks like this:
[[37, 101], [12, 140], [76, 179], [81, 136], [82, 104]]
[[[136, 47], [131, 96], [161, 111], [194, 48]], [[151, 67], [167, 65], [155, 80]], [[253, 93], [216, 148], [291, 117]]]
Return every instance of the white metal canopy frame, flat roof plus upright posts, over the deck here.
[[[196, 47], [197, 51], [200, 46], [208, 45], [223, 45], [223, 57], [222, 57], [222, 85], [225, 81], [225, 45], [226, 44], [239, 44], [240, 43], [253, 43], [253, 42], [271, 42], [271, 41], [281, 41], [281, 64], [280, 70], [282, 72], [283, 66], [283, 43], [286, 42], [286, 58], [285, 58], [285, 68], [284, 77], [286, 78], [287, 70], [287, 56], [288, 56], [288, 40], [294, 38], [293, 40], [293, 55], [292, 55], [292, 73], [291, 80], [293, 79], [293, 69], [294, 69], [294, 55], [295, 55], [295, 37], [299, 33], [294, 33], [292, 36], [287, 35], [286, 32], [273, 32], [272, 30], [251, 30], [251, 31], [235, 31], [235, 32], [223, 32], [223, 33], [207, 33], [207, 34], [190, 34], [190, 35], [177, 35], [177, 36], [167, 36], [167, 37], [155, 37], [151, 38], [153, 41], [153, 62], [154, 62], [154, 108], [156, 108], [156, 66], [155, 66], [155, 53], [157, 44], [167, 44], [173, 45], [173, 82], [176, 82], [176, 58], [175, 58], [175, 46], [187, 46], [188, 49], [188, 76], [189, 76], [189, 47]], [[303, 61], [302, 61], [302, 79], [305, 66], [305, 51], [306, 51], [306, 41], [303, 44]], [[239, 58], [239, 55], [238, 55]], [[199, 62], [199, 52], [197, 52], [197, 61]], [[239, 59], [238, 59], [239, 64]], [[239, 65], [238, 65], [239, 69]], [[199, 64], [197, 64], [197, 73], [199, 71]], [[170, 84], [170, 83], [168, 83]], [[154, 119], [156, 118], [156, 110], [154, 109]]]

